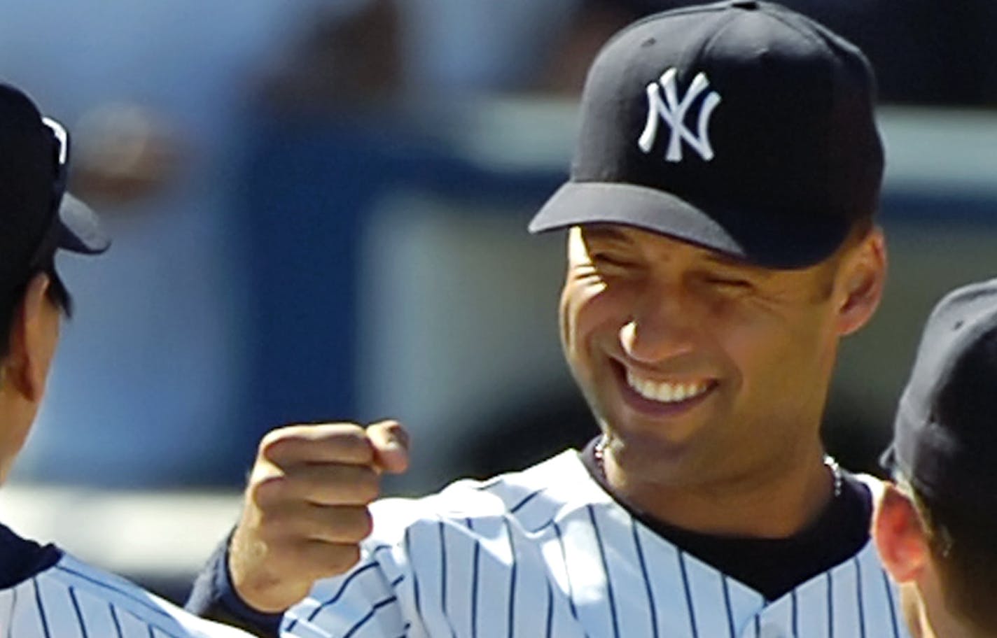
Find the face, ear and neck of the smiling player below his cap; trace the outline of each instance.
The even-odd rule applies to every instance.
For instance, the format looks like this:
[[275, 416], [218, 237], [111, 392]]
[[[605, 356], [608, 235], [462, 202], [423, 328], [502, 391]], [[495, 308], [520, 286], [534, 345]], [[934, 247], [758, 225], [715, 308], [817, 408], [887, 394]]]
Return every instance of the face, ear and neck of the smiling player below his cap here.
[[795, 270], [619, 225], [573, 227], [568, 255], [564, 351], [613, 493], [714, 534], [814, 520], [831, 486], [818, 430], [835, 346], [874, 307], [878, 233]]

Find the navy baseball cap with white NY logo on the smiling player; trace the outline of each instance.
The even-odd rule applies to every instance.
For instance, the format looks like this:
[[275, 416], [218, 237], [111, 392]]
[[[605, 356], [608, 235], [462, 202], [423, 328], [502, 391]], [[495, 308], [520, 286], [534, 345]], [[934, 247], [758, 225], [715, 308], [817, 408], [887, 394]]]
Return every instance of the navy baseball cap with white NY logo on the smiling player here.
[[816, 264], [878, 205], [874, 84], [854, 45], [776, 4], [645, 18], [593, 62], [570, 177], [529, 230], [620, 223]]

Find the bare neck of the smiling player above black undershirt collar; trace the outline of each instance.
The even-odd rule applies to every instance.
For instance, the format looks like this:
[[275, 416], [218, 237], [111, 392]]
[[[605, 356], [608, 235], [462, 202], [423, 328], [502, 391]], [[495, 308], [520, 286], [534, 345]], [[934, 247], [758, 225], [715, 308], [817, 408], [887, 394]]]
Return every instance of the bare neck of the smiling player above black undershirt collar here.
[[726, 477], [671, 484], [634, 477], [611, 448], [602, 451], [609, 486], [634, 508], [690, 531], [759, 538], [792, 536], [817, 519], [839, 490], [832, 464], [817, 443], [794, 455], [792, 464], [760, 464]]

